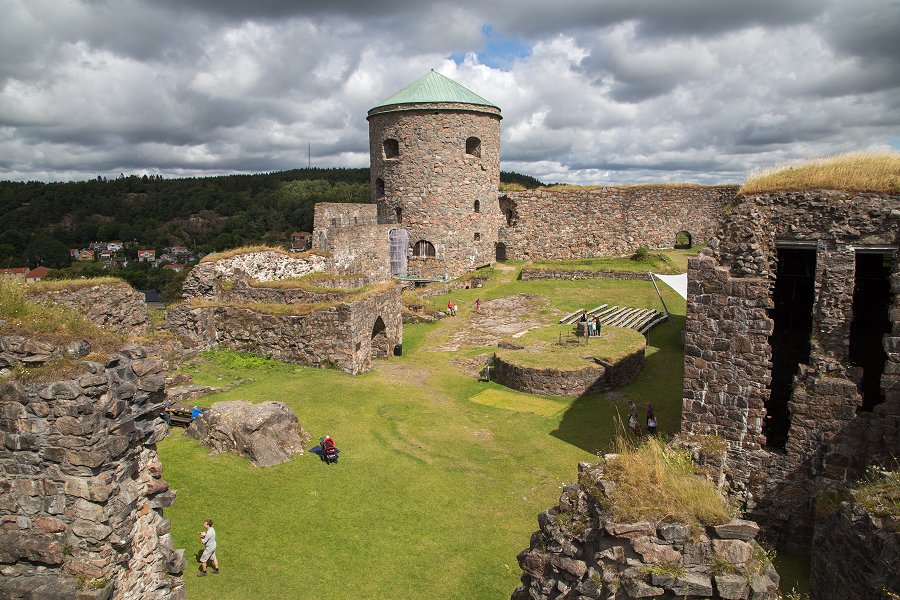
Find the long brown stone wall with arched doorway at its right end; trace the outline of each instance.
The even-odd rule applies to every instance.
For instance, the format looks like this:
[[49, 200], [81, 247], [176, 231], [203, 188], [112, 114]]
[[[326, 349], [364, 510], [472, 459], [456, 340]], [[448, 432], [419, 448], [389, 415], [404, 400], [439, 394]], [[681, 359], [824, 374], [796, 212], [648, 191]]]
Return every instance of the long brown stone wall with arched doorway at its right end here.
[[400, 287], [307, 315], [272, 315], [242, 306], [178, 305], [166, 327], [188, 343], [224, 346], [351, 374], [388, 357], [403, 338]]

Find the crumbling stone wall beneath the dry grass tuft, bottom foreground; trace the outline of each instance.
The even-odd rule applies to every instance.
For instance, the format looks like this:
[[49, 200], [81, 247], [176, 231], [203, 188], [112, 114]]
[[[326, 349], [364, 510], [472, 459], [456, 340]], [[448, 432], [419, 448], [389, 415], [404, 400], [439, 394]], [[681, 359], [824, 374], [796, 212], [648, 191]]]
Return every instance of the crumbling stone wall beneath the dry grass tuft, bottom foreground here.
[[590, 490], [566, 485], [559, 504], [538, 516], [540, 529], [518, 556], [522, 585], [513, 600], [777, 597], [778, 574], [752, 521], [618, 523], [598, 502], [615, 484], [597, 465], [578, 469]]

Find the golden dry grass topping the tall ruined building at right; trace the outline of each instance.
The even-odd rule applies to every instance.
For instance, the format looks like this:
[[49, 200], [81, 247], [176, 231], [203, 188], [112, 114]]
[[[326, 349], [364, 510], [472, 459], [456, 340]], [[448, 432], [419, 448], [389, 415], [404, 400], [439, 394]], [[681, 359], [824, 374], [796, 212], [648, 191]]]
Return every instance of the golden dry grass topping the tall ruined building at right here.
[[840, 190], [900, 193], [900, 152], [852, 152], [753, 173], [741, 194]]

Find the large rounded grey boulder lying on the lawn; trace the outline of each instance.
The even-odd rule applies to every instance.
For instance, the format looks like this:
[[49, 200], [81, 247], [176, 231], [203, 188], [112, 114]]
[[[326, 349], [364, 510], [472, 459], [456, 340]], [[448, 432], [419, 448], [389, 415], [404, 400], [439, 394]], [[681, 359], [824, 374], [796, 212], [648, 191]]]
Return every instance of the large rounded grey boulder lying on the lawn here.
[[187, 435], [213, 452], [238, 452], [258, 467], [270, 467], [303, 454], [310, 435], [283, 402], [217, 402], [191, 423]]

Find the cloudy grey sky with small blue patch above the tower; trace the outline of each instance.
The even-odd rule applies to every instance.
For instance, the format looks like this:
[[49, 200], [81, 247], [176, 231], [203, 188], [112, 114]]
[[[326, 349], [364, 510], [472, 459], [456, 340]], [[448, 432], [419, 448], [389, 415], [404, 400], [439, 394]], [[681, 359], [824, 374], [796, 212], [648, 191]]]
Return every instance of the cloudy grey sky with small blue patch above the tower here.
[[[435, 69], [547, 182], [900, 148], [900, 0], [0, 0], [0, 179], [367, 166]], [[309, 145], [309, 146], [308, 146]]]

